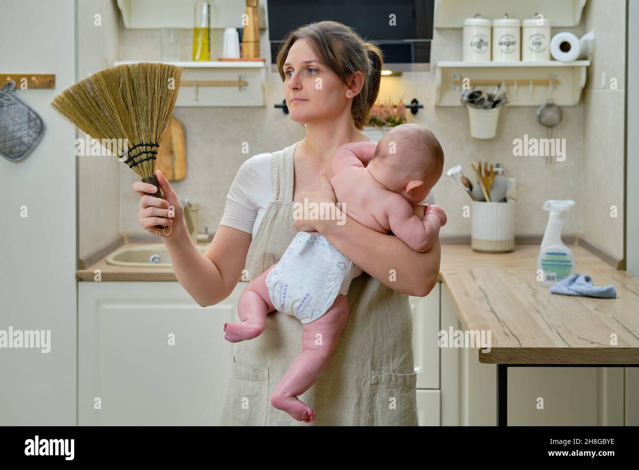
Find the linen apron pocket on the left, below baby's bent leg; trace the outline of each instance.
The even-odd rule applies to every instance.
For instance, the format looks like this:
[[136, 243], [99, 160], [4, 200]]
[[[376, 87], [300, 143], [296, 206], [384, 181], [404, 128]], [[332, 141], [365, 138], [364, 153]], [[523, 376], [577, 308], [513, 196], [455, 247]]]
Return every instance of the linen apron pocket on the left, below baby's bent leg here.
[[251, 368], [231, 362], [231, 379], [224, 403], [224, 423], [265, 426], [268, 409], [268, 367]]

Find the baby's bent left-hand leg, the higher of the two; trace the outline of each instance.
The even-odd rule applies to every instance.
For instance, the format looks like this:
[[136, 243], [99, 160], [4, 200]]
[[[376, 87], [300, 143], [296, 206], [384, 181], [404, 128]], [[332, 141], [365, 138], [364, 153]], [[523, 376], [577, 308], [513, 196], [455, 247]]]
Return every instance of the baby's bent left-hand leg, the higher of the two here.
[[252, 340], [264, 331], [266, 314], [273, 311], [275, 307], [268, 297], [268, 287], [266, 286], [266, 276], [275, 267], [265, 270], [258, 278], [250, 281], [238, 301], [238, 317], [242, 322], [226, 322], [224, 324], [224, 339], [237, 343], [238, 341]]

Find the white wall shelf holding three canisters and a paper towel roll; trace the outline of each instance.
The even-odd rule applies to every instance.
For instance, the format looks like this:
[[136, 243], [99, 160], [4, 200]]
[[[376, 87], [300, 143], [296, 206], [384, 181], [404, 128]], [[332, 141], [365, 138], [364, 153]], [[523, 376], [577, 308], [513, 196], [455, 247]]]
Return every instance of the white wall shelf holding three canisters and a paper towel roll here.
[[[438, 62], [435, 66], [435, 106], [461, 106], [462, 84], [492, 91], [502, 81], [508, 106], [537, 106], [548, 98], [560, 106], [579, 104], [590, 61]], [[530, 84], [532, 82], [532, 85]]]

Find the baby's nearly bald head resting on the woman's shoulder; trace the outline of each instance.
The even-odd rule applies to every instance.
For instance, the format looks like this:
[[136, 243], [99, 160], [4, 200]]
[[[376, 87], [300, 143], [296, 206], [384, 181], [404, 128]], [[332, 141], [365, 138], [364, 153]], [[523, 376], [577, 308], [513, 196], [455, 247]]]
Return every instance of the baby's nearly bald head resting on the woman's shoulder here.
[[442, 146], [425, 127], [401, 124], [381, 138], [367, 168], [378, 182], [415, 204], [442, 176]]

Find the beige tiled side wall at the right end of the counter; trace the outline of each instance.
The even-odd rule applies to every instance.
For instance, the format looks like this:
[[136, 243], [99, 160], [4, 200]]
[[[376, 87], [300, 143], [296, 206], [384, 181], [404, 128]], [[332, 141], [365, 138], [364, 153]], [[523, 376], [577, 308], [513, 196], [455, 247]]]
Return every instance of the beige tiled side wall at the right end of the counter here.
[[[626, 2], [589, 0], [584, 31], [595, 45], [583, 99], [581, 205], [583, 238], [604, 253], [624, 258], [624, 100], [626, 83]], [[601, 86], [603, 75], [606, 86]], [[612, 88], [610, 80], [616, 79]], [[632, 82], [630, 82], [632, 83]], [[617, 217], [611, 217], [617, 207]], [[571, 212], [573, 212], [571, 210]], [[577, 272], [581, 272], [577, 266]]]

